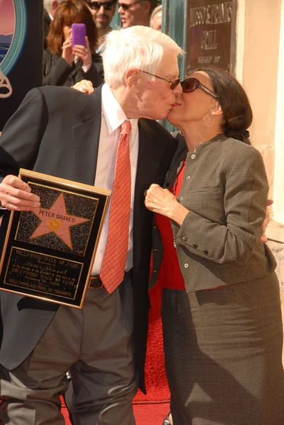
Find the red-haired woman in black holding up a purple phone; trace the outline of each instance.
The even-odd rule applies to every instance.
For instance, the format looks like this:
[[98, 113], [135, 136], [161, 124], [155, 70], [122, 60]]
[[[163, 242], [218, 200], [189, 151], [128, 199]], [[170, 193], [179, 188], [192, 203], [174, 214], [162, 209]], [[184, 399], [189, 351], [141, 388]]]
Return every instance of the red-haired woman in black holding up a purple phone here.
[[[86, 47], [72, 47], [73, 23], [85, 23]], [[73, 86], [89, 79], [94, 87], [103, 83], [103, 64], [96, 54], [98, 34], [89, 8], [82, 0], [62, 1], [47, 35], [44, 52], [44, 86]]]

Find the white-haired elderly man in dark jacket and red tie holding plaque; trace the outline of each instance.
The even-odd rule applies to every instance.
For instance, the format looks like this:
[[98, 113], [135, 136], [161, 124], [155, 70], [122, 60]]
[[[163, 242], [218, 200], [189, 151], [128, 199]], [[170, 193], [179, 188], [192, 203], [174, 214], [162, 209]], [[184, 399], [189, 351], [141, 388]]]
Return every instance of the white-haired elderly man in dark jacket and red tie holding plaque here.
[[[163, 183], [176, 149], [156, 120], [181, 94], [180, 54], [176, 42], [151, 28], [111, 31], [103, 52], [106, 84], [90, 96], [66, 87], [33, 89], [2, 132], [2, 208], [40, 205], [18, 179], [20, 167], [113, 190], [82, 310], [1, 293], [5, 424], [63, 425], [59, 395], [70, 368], [74, 425], [135, 424], [132, 398], [138, 385], [145, 391], [152, 249], [144, 191]], [[126, 200], [118, 199], [119, 186]]]

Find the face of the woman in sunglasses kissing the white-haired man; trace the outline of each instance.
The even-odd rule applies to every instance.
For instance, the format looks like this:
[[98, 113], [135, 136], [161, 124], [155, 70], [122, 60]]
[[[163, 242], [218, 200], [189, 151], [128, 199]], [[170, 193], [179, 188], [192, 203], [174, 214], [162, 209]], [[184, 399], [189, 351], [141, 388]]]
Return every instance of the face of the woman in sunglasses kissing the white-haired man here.
[[[212, 82], [203, 71], [195, 72], [190, 77], [197, 78], [200, 83], [213, 90]], [[176, 103], [168, 116], [167, 120], [178, 128], [185, 128], [188, 123], [203, 123], [203, 118], [208, 114], [211, 108], [214, 108], [217, 100], [206, 94], [203, 90], [196, 89], [191, 93], [182, 93], [176, 98]]]

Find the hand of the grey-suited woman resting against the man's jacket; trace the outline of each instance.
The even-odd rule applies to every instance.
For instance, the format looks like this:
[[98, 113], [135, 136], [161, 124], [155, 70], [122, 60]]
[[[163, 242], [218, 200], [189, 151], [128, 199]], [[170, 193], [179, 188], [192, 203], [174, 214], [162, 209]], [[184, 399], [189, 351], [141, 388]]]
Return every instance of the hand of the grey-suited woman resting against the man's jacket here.
[[188, 209], [178, 203], [168, 189], [163, 189], [158, 184], [152, 184], [146, 191], [144, 203], [148, 210], [169, 217], [178, 225], [181, 225], [188, 215]]

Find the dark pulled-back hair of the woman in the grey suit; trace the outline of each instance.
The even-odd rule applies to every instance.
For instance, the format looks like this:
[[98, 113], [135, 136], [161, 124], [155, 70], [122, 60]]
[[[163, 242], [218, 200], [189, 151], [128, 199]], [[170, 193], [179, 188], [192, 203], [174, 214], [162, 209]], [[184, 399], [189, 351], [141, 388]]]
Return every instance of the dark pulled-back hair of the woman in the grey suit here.
[[196, 71], [208, 74], [214, 93], [219, 97], [224, 115], [222, 131], [228, 137], [249, 143], [246, 129], [251, 125], [253, 115], [249, 99], [239, 81], [217, 67], [198, 67]]

